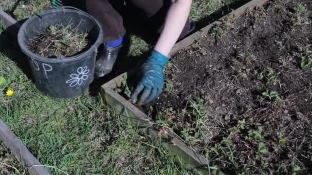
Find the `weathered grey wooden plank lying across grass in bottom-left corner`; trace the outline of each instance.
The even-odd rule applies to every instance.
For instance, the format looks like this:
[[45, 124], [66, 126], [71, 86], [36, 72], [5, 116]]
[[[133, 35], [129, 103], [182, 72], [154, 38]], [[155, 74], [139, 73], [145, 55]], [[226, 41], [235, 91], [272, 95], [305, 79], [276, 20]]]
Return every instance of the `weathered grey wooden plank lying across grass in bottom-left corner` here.
[[33, 175], [49, 175], [50, 173], [40, 162], [31, 154], [9, 129], [9, 127], [0, 119], [0, 140], [12, 151], [12, 154], [23, 164], [26, 165], [29, 173]]

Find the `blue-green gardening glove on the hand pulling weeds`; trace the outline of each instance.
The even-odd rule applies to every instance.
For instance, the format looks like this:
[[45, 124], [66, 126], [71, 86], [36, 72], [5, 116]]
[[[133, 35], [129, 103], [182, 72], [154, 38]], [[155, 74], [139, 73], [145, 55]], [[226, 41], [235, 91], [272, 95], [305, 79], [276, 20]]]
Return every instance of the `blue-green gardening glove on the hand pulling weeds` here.
[[150, 57], [142, 66], [142, 78], [136, 85], [136, 89], [131, 95], [132, 102], [138, 99], [139, 103], [148, 103], [155, 100], [163, 91], [164, 75], [163, 69], [168, 58], [156, 50], [151, 52]]

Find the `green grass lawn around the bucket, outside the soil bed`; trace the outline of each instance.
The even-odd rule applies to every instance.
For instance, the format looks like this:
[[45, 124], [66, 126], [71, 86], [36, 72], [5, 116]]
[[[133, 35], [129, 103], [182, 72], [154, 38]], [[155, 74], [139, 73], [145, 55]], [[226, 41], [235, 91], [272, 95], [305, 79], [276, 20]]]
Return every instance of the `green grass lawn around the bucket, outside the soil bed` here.
[[[12, 14], [18, 20], [49, 6], [49, 1], [43, 0], [16, 2], [0, 0], [0, 8], [14, 8]], [[190, 17], [198, 20], [226, 3], [194, 2]], [[60, 100], [38, 92], [11, 60], [26, 58], [15, 54], [18, 48], [8, 43], [11, 39], [3, 31], [2, 28], [0, 77], [6, 83], [0, 85], [1, 119], [52, 174], [191, 174], [175, 165], [157, 140], [138, 134], [135, 127], [123, 122], [101, 98], [84, 94]], [[131, 43], [130, 55], [140, 55], [151, 47], [136, 36]], [[14, 94], [7, 97], [7, 90]]]

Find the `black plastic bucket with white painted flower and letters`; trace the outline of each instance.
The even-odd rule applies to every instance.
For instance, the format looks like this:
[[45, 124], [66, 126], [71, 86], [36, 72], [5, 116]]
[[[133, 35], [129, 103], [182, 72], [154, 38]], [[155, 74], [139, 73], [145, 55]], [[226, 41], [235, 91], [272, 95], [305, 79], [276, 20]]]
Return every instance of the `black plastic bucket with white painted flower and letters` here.
[[[67, 58], [41, 57], [28, 49], [27, 41], [50, 25], [71, 25], [78, 32], [88, 33], [90, 48]], [[100, 23], [84, 11], [54, 9], [30, 17], [18, 31], [18, 44], [28, 56], [37, 89], [53, 98], [73, 98], [89, 89], [94, 78], [97, 48], [103, 41]]]

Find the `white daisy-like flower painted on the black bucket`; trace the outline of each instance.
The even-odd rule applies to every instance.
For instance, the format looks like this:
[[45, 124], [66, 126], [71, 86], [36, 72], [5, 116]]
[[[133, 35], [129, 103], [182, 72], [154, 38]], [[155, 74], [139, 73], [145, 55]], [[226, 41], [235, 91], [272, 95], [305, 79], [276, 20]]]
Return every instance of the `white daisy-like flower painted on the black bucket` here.
[[70, 87], [74, 87], [76, 85], [81, 85], [85, 80], [89, 78], [90, 70], [88, 67], [79, 67], [77, 69], [77, 74], [70, 74], [71, 79], [67, 80], [66, 83], [69, 84]]

